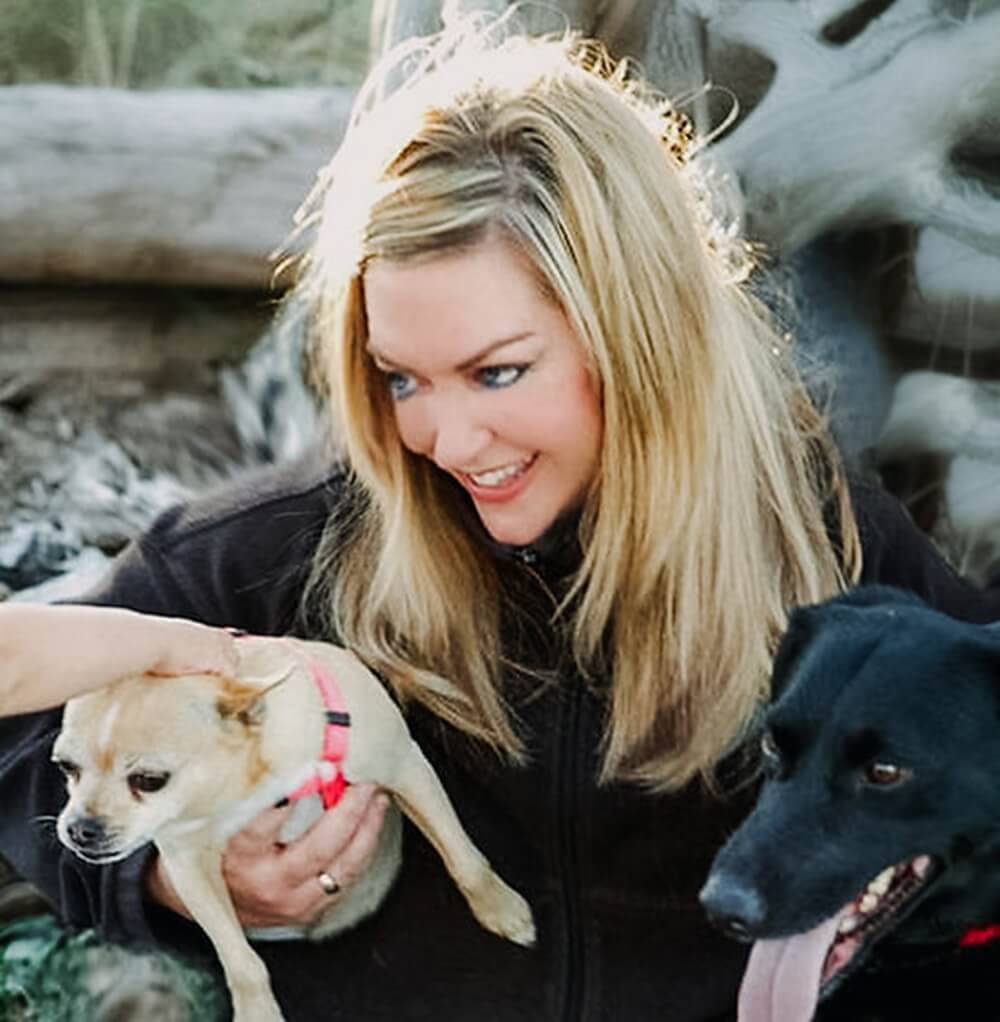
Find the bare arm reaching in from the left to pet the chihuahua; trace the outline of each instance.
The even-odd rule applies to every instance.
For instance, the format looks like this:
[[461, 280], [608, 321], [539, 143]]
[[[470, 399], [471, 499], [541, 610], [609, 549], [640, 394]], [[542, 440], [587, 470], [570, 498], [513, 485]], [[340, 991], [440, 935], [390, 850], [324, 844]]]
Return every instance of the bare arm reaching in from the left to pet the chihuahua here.
[[0, 606], [0, 713], [57, 706], [127, 675], [235, 670], [222, 629], [117, 607]]

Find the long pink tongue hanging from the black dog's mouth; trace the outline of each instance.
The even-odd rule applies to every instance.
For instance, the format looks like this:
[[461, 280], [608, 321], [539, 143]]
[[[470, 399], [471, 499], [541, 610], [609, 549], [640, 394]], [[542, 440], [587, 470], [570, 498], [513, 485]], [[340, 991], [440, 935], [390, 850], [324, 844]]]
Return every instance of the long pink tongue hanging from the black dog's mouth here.
[[758, 940], [739, 988], [739, 1022], [810, 1022], [840, 913], [808, 933]]

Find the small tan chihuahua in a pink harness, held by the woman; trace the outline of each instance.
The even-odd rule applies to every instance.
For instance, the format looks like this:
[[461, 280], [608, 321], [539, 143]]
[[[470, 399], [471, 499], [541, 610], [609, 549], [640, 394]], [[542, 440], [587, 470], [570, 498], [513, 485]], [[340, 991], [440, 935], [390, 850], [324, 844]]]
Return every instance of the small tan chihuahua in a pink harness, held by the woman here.
[[[227, 839], [269, 805], [303, 786], [321, 791], [336, 782], [323, 756], [331, 725], [349, 734], [339, 762], [344, 782], [389, 791], [437, 848], [483, 926], [532, 944], [531, 909], [462, 829], [378, 680], [353, 654], [324, 643], [247, 637], [236, 645], [238, 679], [138, 676], [71, 700], [52, 752], [70, 793], [59, 839], [95, 864], [155, 843], [178, 894], [215, 946], [236, 1022], [275, 1022], [281, 1012], [233, 912], [222, 852]], [[339, 692], [336, 710], [324, 700], [328, 679]], [[317, 795], [298, 800], [283, 837], [301, 833], [318, 803]], [[320, 938], [374, 912], [400, 865], [402, 823], [390, 809], [371, 868], [326, 916], [305, 930], [255, 935]]]

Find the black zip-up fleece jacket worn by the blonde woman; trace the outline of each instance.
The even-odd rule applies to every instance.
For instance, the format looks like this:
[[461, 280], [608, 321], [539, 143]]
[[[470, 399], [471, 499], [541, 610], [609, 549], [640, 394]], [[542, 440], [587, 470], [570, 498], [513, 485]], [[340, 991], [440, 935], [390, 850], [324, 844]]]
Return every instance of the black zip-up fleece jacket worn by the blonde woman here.
[[[343, 474], [314, 462], [175, 508], [128, 548], [87, 602], [302, 634], [310, 559], [328, 515], [347, 499]], [[865, 582], [911, 589], [956, 616], [1000, 616], [1000, 599], [959, 578], [891, 498], [859, 486], [855, 503]], [[408, 826], [401, 877], [374, 917], [325, 943], [258, 945], [286, 1018], [732, 1018], [746, 949], [710, 929], [696, 895], [751, 793], [720, 799], [698, 784], [664, 796], [598, 787], [602, 686], [578, 677], [546, 623], [546, 590], [565, 567], [560, 552], [543, 550], [534, 564], [495, 554], [502, 584], [516, 591], [517, 619], [532, 622], [509, 630], [510, 652], [557, 673], [551, 685], [510, 683], [530, 762], [506, 765], [420, 709], [410, 725], [473, 840], [531, 902], [537, 946], [514, 946], [480, 927], [436, 852]], [[206, 953], [191, 924], [144, 899], [148, 851], [92, 868], [39, 823], [64, 800], [49, 762], [59, 719], [51, 711], [0, 721], [0, 851], [73, 927]]]

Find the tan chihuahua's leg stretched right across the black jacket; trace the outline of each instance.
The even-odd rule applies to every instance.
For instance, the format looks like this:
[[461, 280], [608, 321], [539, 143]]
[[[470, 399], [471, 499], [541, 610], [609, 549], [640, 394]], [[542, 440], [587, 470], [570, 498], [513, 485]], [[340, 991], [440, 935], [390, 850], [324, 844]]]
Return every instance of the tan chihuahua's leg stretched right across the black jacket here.
[[410, 743], [397, 783], [387, 785], [400, 808], [435, 846], [475, 918], [493, 933], [518, 944], [535, 943], [528, 902], [494, 872], [465, 833], [451, 799], [419, 746]]

